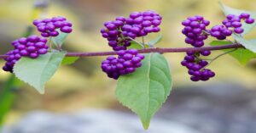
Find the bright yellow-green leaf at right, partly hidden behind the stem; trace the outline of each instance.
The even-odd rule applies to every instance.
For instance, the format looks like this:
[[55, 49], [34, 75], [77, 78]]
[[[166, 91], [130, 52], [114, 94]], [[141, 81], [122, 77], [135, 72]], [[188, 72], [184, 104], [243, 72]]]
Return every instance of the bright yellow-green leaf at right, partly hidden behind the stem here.
[[[224, 41], [213, 41], [210, 43], [211, 46], [221, 46], [221, 45], [227, 45], [231, 42], [224, 42]], [[230, 51], [230, 49], [224, 49], [224, 52]], [[245, 65], [248, 61], [250, 61], [252, 58], [256, 58], [256, 54], [244, 49], [244, 48], [238, 48], [236, 51], [229, 53], [233, 58], [236, 58], [240, 64]]]

